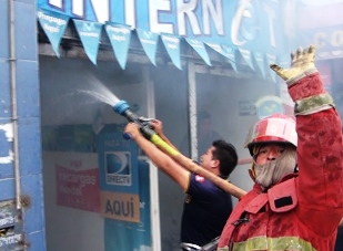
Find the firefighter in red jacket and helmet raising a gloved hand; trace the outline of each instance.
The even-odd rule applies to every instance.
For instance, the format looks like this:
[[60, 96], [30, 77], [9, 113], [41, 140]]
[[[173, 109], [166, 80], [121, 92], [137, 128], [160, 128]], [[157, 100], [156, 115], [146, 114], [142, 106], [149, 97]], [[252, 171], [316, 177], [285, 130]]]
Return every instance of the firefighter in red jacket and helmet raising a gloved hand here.
[[333, 251], [343, 216], [342, 125], [314, 65], [315, 48], [271, 69], [287, 84], [295, 121], [275, 114], [252, 126], [254, 186], [221, 233], [218, 251]]

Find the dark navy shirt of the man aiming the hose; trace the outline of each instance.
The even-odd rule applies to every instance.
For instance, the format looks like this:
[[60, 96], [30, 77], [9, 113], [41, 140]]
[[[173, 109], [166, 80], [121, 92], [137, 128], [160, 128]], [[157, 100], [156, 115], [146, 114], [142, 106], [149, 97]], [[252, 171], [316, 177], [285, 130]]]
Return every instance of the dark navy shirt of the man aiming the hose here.
[[[220, 144], [225, 143], [221, 140], [213, 143], [213, 145]], [[181, 241], [183, 245], [188, 245], [185, 243], [204, 245], [221, 234], [232, 211], [231, 196], [196, 174], [191, 174], [185, 192]]]

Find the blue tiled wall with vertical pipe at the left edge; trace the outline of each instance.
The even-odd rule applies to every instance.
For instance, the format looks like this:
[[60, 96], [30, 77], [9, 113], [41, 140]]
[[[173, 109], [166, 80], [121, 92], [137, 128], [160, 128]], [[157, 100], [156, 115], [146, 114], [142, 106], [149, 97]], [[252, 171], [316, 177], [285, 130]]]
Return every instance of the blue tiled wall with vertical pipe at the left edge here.
[[[9, 1], [0, 0], [0, 125], [11, 123]], [[14, 1], [17, 57], [17, 102], [20, 185], [22, 195], [31, 199], [23, 208], [23, 232], [28, 250], [46, 250], [44, 206], [40, 132], [40, 94], [34, 0]], [[0, 157], [12, 150], [0, 129]], [[0, 164], [0, 200], [16, 198], [13, 164]]]

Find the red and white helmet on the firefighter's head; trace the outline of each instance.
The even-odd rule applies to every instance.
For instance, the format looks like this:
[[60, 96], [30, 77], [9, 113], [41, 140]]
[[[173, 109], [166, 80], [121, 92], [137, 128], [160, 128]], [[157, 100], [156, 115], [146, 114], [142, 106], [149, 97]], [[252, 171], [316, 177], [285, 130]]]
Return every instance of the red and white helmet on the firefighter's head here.
[[296, 147], [295, 119], [283, 114], [273, 114], [251, 126], [244, 147], [253, 156], [253, 146], [260, 143], [290, 143]]

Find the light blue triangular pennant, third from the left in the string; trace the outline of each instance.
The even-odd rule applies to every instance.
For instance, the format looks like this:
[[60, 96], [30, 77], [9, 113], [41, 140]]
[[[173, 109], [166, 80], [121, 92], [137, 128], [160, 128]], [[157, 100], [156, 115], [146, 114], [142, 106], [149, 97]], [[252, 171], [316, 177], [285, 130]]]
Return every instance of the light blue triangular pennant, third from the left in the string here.
[[131, 40], [131, 28], [107, 22], [104, 29], [121, 69], [125, 70]]

